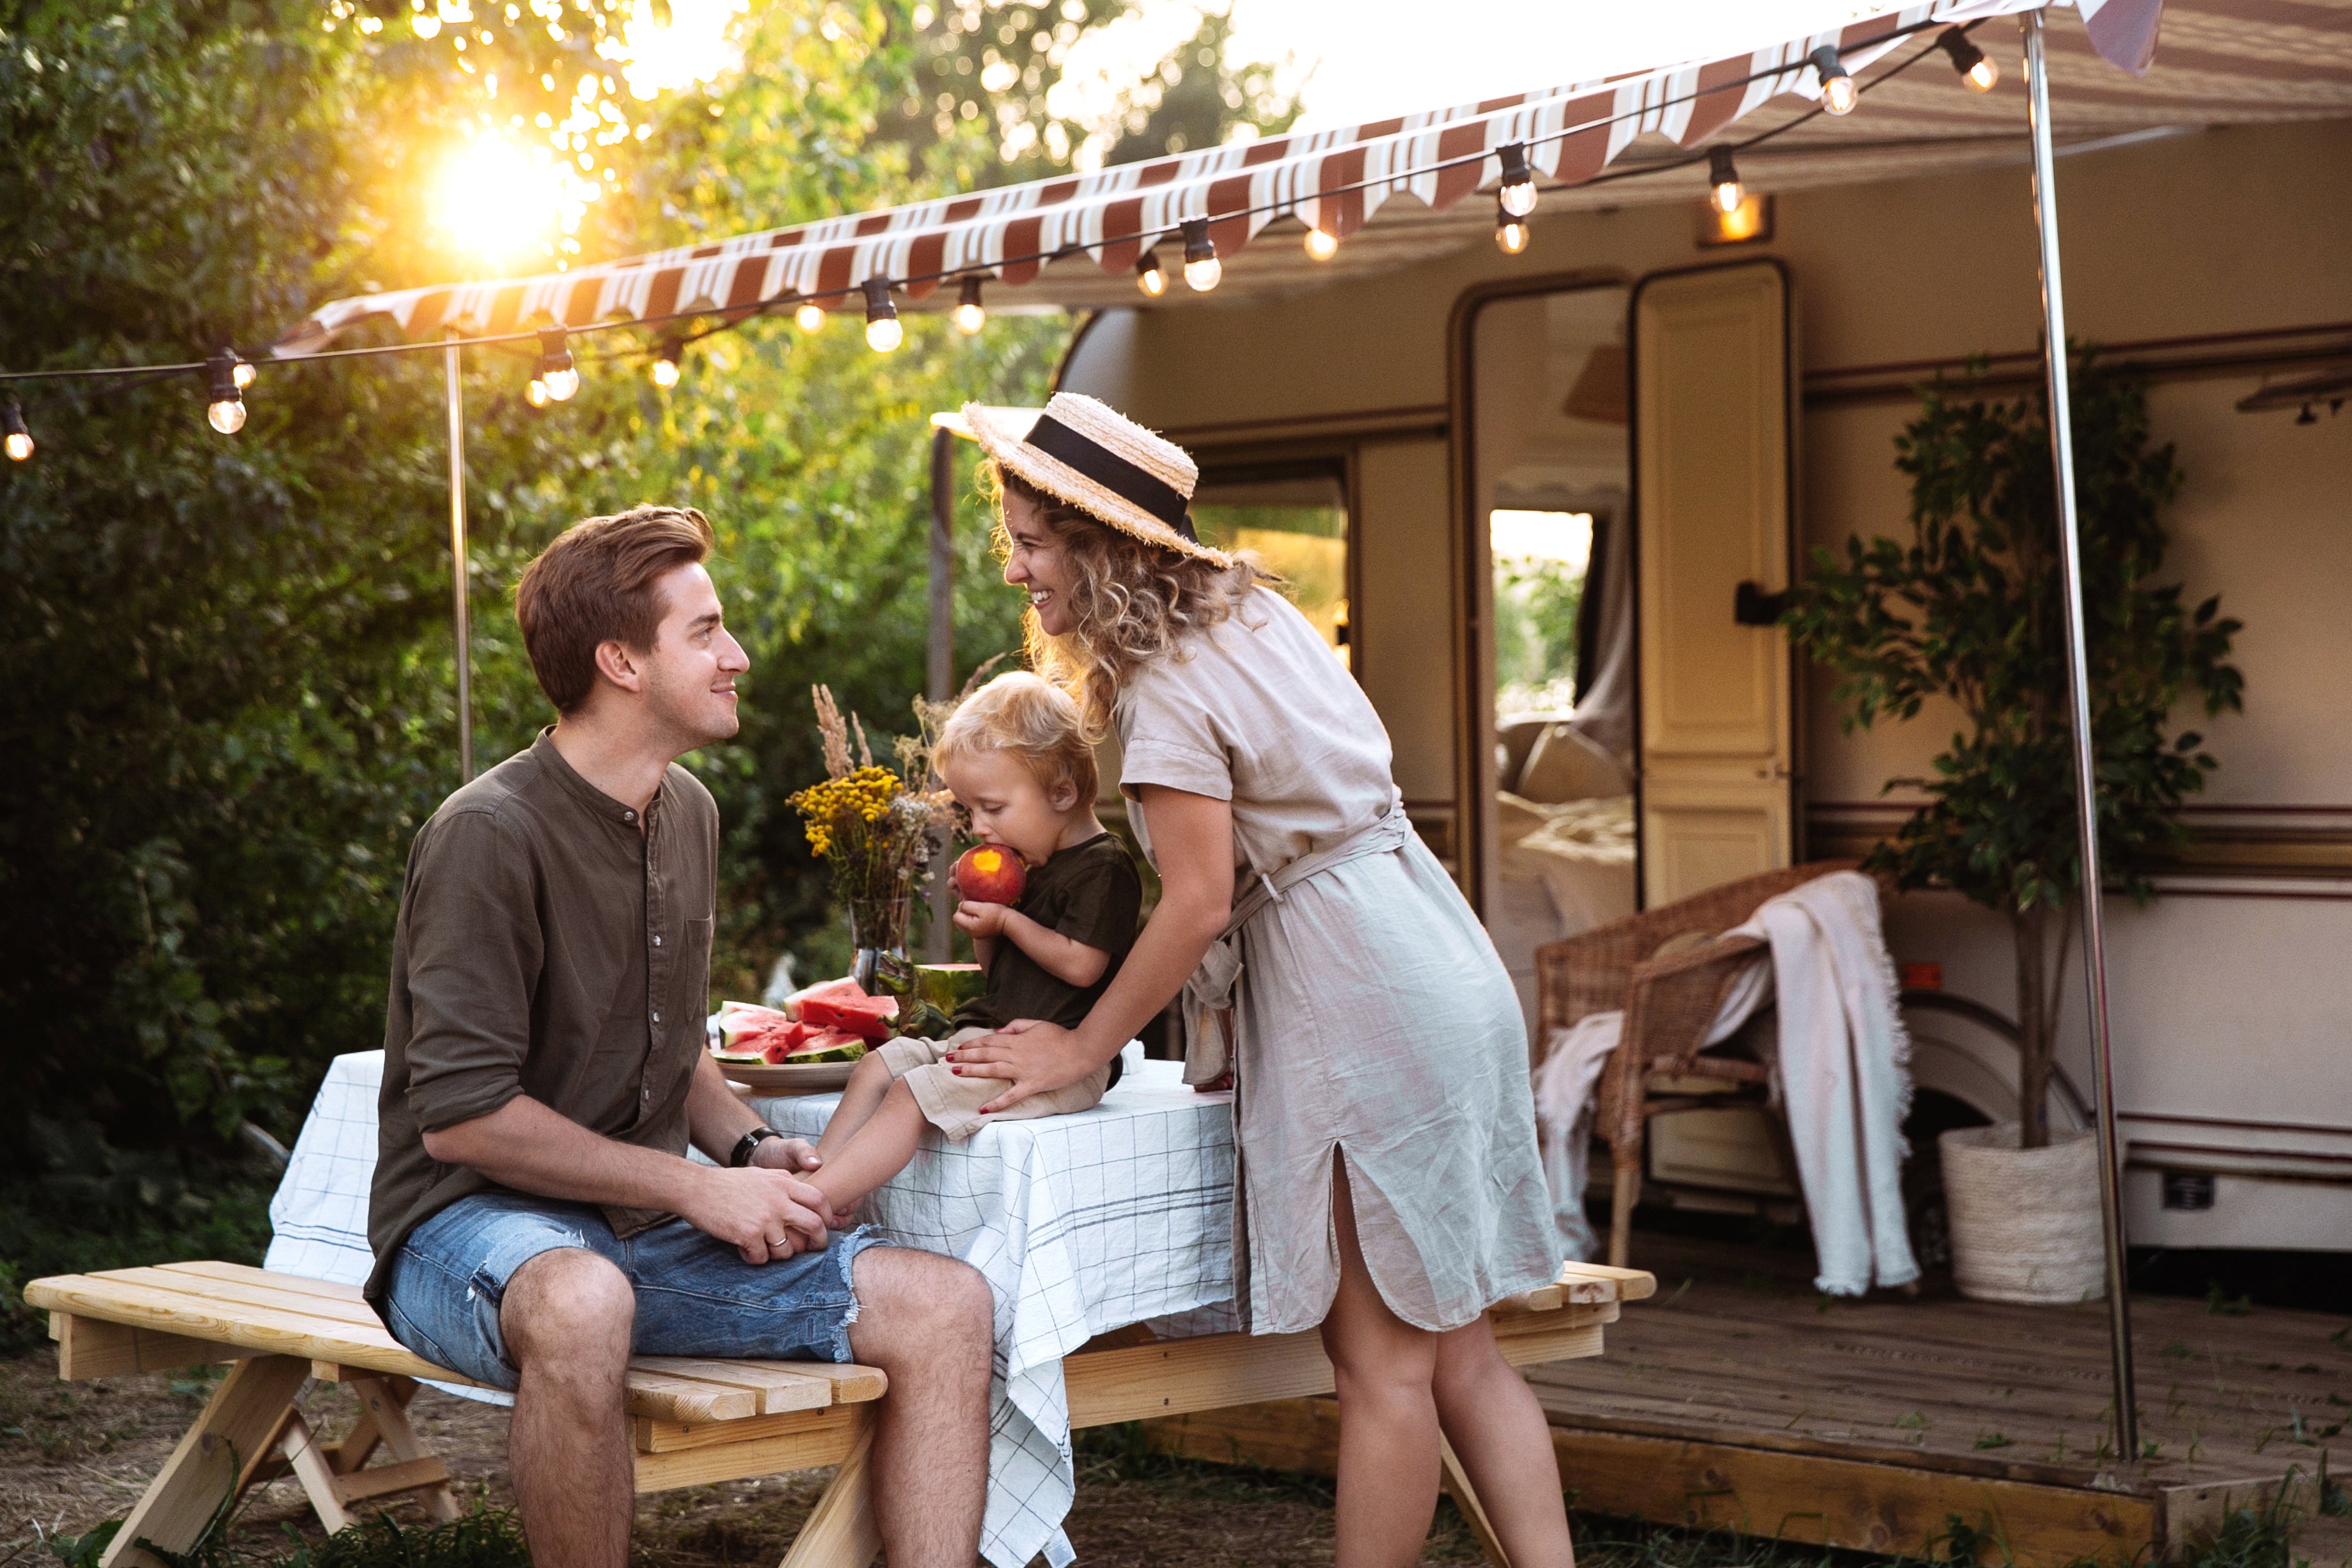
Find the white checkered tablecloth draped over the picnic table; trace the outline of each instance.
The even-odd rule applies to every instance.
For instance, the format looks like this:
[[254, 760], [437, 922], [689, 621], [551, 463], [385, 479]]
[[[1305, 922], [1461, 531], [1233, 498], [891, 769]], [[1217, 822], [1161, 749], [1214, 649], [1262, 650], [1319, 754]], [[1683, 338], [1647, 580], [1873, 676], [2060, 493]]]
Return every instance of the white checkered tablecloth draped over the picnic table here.
[[[1073, 1559], [1070, 1401], [1061, 1359], [1096, 1333], [1150, 1321], [1164, 1338], [1235, 1328], [1230, 1093], [1195, 1093], [1181, 1063], [1141, 1060], [1075, 1117], [997, 1121], [969, 1143], [936, 1133], [866, 1218], [894, 1241], [962, 1258], [997, 1298], [990, 1385], [988, 1521], [995, 1568], [1040, 1552]], [[358, 1286], [367, 1187], [376, 1168], [383, 1053], [339, 1056], [303, 1121], [278, 1197], [266, 1265]], [[755, 1100], [786, 1133], [814, 1140], [840, 1095]], [[513, 1403], [496, 1389], [449, 1389]]]

